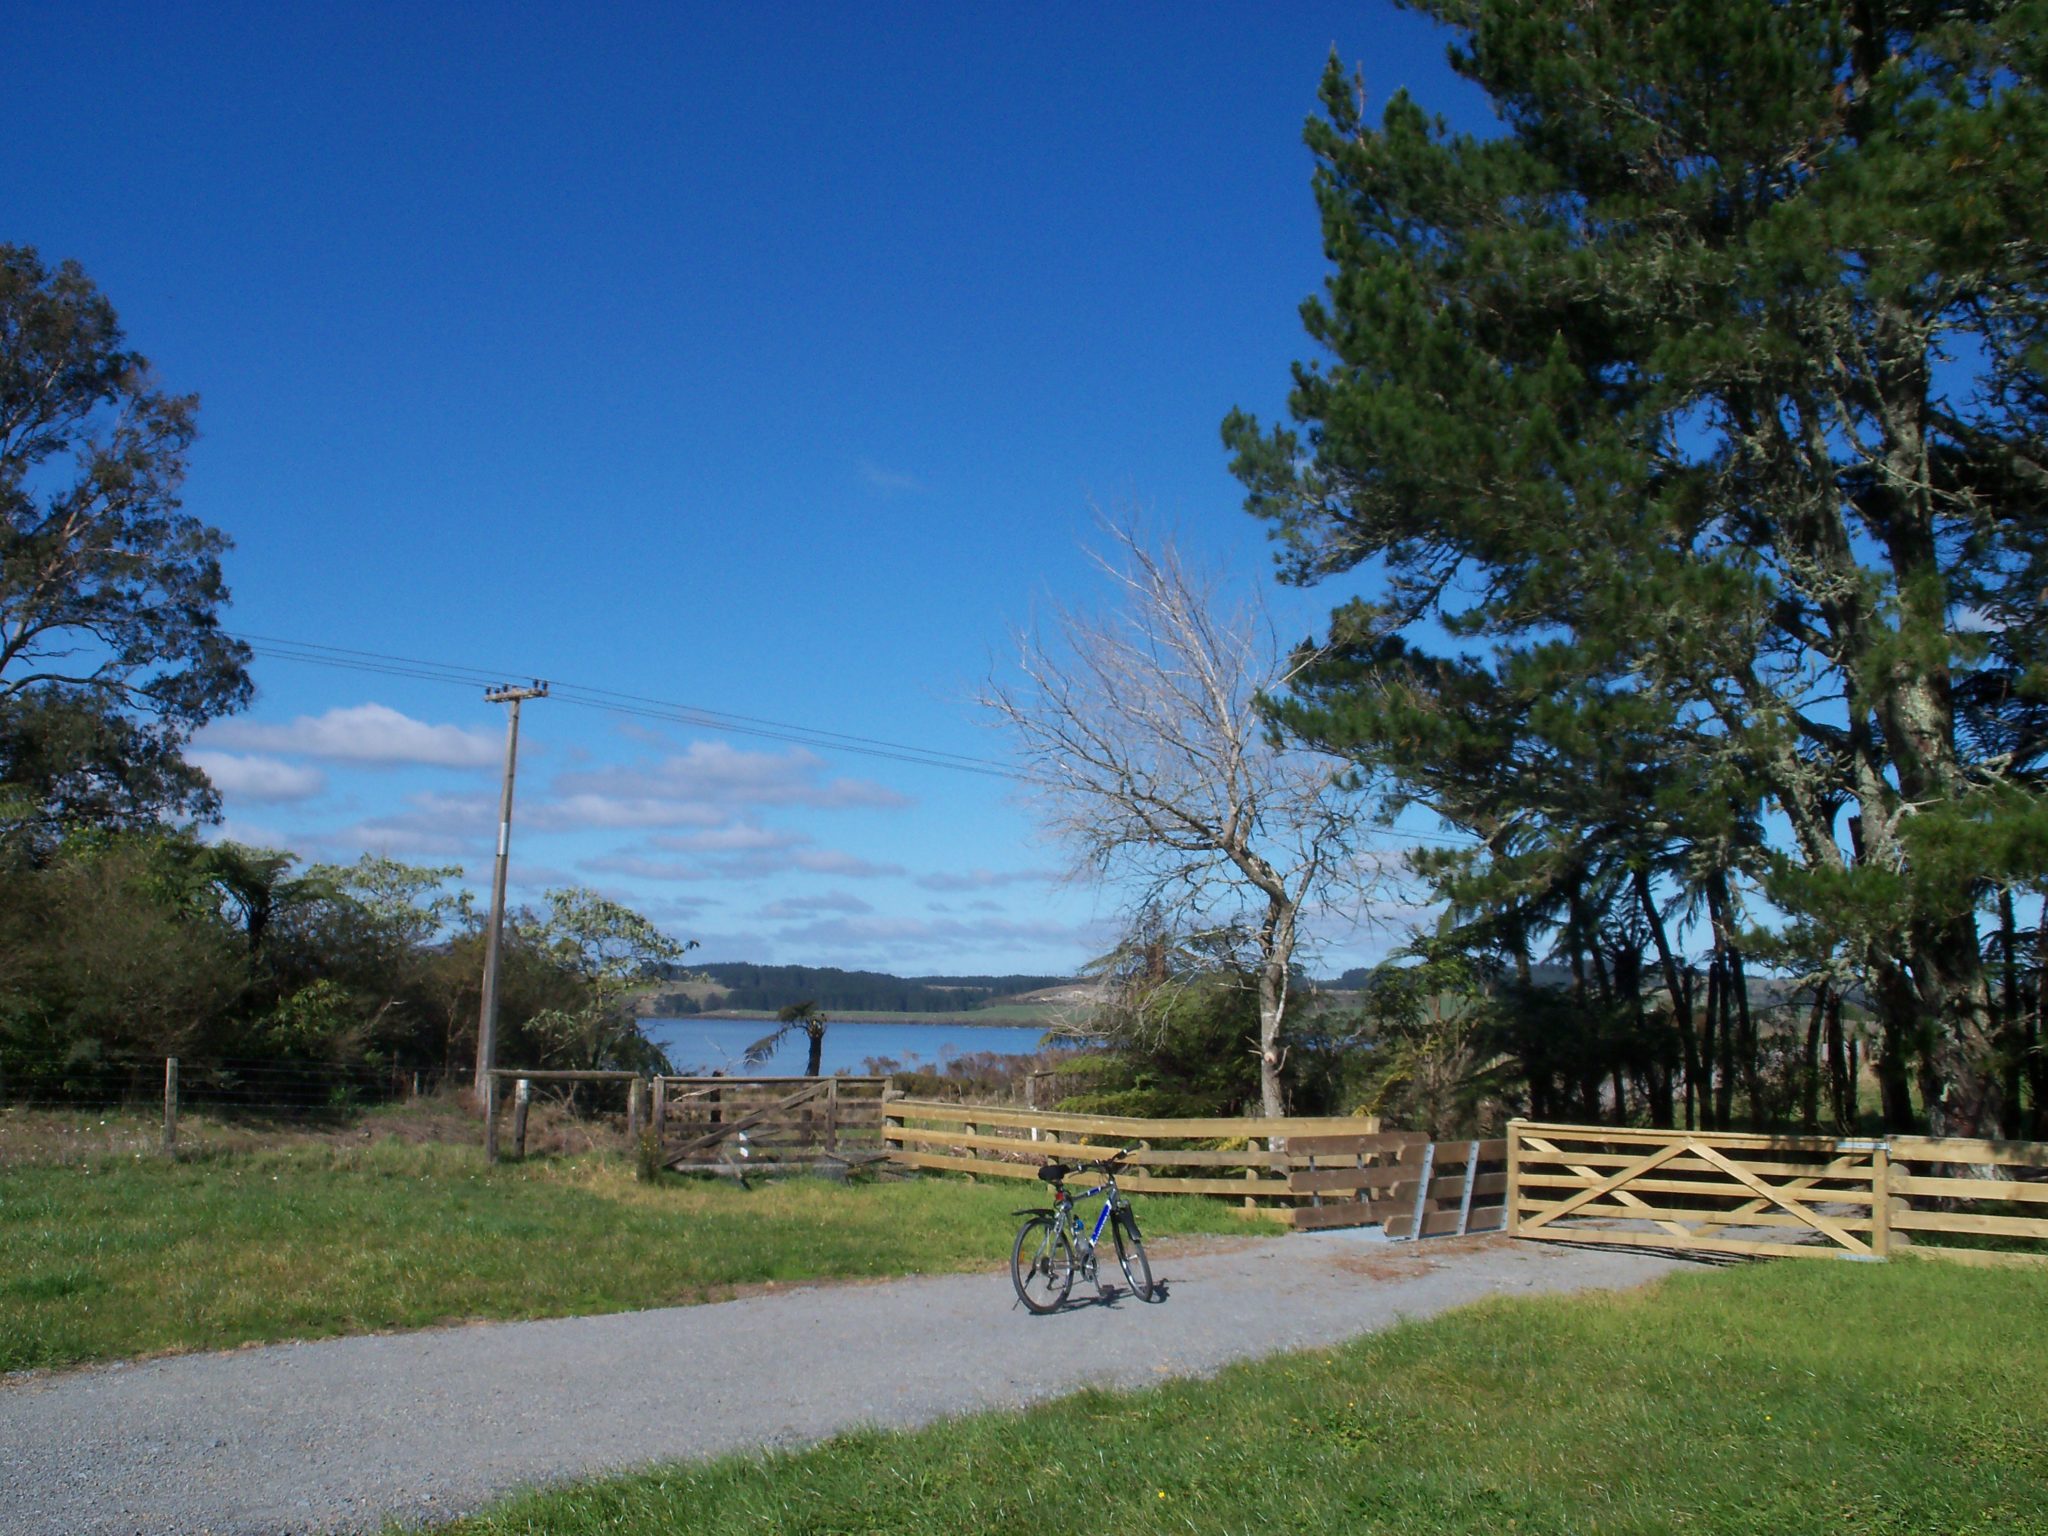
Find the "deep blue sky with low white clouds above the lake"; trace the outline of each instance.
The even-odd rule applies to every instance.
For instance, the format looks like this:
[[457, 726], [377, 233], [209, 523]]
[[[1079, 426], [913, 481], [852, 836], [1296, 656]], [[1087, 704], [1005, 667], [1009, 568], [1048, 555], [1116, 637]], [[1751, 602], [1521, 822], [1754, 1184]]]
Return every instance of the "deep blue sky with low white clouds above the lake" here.
[[[1331, 45], [1485, 109], [1380, 4], [92, 6], [0, 57], [0, 240], [203, 397], [186, 506], [248, 635], [999, 758], [1006, 635], [1092, 504], [1272, 586], [1217, 424], [1321, 281]], [[1274, 592], [1309, 631], [1337, 598]], [[403, 670], [399, 670], [403, 672]], [[229, 836], [487, 877], [475, 682], [262, 655]], [[1067, 971], [1114, 893], [999, 778], [524, 713], [514, 899], [700, 958]], [[1384, 946], [1331, 932], [1329, 967]]]

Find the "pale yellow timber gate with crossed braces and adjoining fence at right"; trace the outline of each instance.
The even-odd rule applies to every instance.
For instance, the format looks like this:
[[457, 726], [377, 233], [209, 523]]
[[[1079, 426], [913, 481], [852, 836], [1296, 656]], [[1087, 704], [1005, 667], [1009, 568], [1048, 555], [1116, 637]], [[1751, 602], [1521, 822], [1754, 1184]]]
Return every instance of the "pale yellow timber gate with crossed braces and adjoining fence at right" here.
[[[1513, 1120], [1505, 1182], [1516, 1237], [1751, 1257], [2048, 1264], [2044, 1143]], [[1917, 1233], [2030, 1241], [1993, 1251]]]

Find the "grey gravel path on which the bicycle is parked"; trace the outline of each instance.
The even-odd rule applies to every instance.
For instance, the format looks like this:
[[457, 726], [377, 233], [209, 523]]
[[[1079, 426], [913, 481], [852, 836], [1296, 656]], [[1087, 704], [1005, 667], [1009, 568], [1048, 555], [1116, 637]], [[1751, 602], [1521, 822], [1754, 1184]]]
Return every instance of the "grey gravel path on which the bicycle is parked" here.
[[1159, 1305], [1120, 1296], [1053, 1317], [1026, 1315], [1008, 1274], [989, 1272], [14, 1378], [0, 1384], [0, 1532], [446, 1520], [522, 1485], [1141, 1386], [1489, 1294], [1634, 1286], [1679, 1266], [1300, 1233], [1167, 1247], [1155, 1268]]

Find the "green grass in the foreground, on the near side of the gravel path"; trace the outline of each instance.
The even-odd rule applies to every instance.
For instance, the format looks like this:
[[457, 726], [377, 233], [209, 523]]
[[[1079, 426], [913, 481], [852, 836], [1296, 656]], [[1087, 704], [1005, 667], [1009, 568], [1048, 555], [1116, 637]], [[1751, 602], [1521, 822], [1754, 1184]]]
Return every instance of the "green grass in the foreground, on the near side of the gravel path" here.
[[528, 1495], [444, 1536], [1049, 1530], [2040, 1536], [2048, 1278], [1780, 1264], [1499, 1300], [1214, 1380]]

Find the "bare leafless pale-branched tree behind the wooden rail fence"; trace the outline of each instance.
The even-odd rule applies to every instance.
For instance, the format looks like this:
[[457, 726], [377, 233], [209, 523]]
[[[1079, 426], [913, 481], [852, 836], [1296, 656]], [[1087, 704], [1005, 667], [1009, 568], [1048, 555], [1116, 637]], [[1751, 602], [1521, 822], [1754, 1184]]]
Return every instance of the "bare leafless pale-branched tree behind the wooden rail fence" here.
[[1171, 541], [1128, 522], [1096, 563], [1116, 602], [1055, 608], [1016, 635], [1022, 682], [981, 705], [1014, 735], [1044, 825], [1118, 879], [1133, 911], [1245, 934], [1260, 995], [1260, 1098], [1282, 1114], [1288, 983], [1303, 915], [1356, 895], [1372, 801], [1352, 764], [1282, 739], [1260, 709], [1292, 670], [1264, 606], [1229, 602]]

